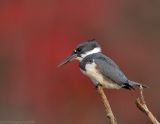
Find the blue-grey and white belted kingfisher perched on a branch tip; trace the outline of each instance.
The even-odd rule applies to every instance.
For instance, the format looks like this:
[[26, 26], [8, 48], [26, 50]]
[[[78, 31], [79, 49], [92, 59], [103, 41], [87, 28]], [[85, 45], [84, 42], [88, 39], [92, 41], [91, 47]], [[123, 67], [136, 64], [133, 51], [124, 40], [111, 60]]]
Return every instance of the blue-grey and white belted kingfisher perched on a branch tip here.
[[80, 43], [59, 66], [73, 59], [79, 60], [81, 72], [88, 76], [95, 86], [101, 85], [103, 88], [108, 89], [146, 87], [129, 80], [119, 66], [102, 53], [101, 47], [95, 39]]

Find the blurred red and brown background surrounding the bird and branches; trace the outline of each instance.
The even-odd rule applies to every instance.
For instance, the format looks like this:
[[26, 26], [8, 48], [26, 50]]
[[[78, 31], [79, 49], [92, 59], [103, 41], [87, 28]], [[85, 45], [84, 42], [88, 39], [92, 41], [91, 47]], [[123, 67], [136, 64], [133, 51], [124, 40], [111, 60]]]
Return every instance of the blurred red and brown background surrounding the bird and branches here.
[[[74, 61], [57, 65], [95, 38], [129, 79], [150, 88], [160, 120], [159, 0], [1, 0], [0, 121], [105, 124], [103, 104]], [[149, 124], [138, 91], [105, 90], [119, 124]]]

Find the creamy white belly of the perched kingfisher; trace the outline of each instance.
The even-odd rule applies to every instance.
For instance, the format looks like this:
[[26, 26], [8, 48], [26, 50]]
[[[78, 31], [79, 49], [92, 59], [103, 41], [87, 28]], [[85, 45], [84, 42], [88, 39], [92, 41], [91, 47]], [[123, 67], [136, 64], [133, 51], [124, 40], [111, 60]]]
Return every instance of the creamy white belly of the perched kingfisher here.
[[86, 64], [86, 71], [81, 70], [83, 74], [88, 76], [94, 83], [95, 86], [101, 84], [104, 88], [108, 89], [119, 89], [121, 86], [114, 83], [112, 80], [104, 78], [103, 75], [96, 69], [96, 64]]

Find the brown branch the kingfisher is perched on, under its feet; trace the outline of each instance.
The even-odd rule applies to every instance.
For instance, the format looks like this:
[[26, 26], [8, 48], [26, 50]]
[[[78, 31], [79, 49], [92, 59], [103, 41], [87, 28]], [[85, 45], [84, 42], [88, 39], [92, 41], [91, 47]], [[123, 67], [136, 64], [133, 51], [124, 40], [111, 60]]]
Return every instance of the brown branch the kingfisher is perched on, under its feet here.
[[109, 101], [103, 91], [103, 88], [102, 86], [98, 85], [97, 86], [97, 91], [98, 91], [98, 94], [100, 95], [101, 99], [102, 99], [102, 102], [105, 106], [105, 111], [106, 111], [106, 114], [107, 114], [107, 118], [110, 119], [110, 123], [111, 124], [117, 124], [117, 121], [116, 121], [116, 118], [114, 117], [113, 115], [113, 112], [112, 112], [112, 109], [110, 107], [110, 104], [109, 104]]

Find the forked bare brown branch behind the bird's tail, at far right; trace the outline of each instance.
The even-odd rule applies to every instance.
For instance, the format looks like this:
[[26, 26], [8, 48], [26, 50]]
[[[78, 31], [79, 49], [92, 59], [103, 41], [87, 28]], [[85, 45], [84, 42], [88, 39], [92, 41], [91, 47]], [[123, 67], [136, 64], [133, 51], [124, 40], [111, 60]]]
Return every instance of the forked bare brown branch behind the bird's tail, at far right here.
[[152, 124], [160, 124], [146, 105], [146, 102], [143, 96], [142, 86], [140, 86], [140, 98], [136, 100], [136, 105], [140, 111], [142, 111], [143, 113], [147, 115], [147, 117], [149, 118]]

